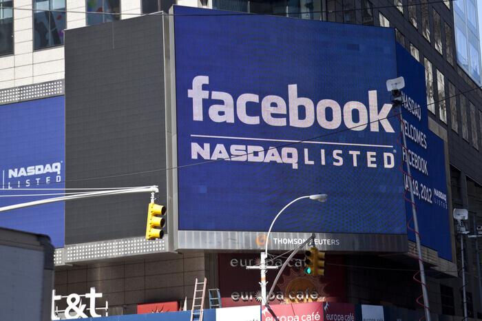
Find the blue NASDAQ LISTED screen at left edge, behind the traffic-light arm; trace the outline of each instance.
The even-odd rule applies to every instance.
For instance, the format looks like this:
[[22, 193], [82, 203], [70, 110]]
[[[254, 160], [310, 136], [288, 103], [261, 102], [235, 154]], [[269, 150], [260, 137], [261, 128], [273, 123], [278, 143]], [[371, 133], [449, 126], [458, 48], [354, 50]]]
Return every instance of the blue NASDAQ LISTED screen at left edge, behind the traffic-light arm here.
[[[64, 115], [63, 96], [0, 106], [0, 207], [55, 197], [33, 194], [63, 193]], [[46, 234], [55, 247], [63, 247], [64, 205], [0, 212], [0, 226]]]

